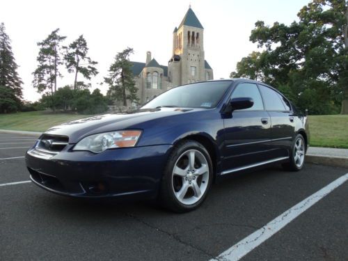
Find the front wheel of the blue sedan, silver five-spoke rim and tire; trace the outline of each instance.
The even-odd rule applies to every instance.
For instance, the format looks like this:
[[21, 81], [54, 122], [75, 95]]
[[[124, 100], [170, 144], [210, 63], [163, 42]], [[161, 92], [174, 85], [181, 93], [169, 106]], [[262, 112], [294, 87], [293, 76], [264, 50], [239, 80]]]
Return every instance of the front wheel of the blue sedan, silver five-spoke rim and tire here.
[[159, 189], [161, 205], [178, 213], [196, 209], [207, 197], [212, 177], [212, 160], [205, 147], [181, 141], [168, 157]]

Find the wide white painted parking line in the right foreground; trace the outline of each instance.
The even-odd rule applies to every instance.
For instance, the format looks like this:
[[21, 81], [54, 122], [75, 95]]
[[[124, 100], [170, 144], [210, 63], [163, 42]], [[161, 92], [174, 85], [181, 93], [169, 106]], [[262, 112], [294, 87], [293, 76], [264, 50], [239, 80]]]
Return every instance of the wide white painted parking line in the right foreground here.
[[[248, 235], [248, 237], [242, 239], [234, 246], [231, 246], [225, 252], [221, 253], [219, 256], [212, 260], [219, 261], [232, 261], [239, 260], [244, 257], [247, 253], [252, 251], [254, 248], [260, 246], [264, 241], [269, 239], [269, 237], [273, 236], [284, 228], [288, 223], [296, 219], [297, 216], [305, 212], [307, 209], [312, 207], [319, 200], [327, 196], [331, 191], [342, 185], [348, 180], [348, 173], [342, 175], [337, 180], [331, 182], [326, 187], [320, 189], [315, 192], [312, 196], [302, 200], [300, 203], [294, 205], [294, 207], [288, 209], [280, 216], [276, 217], [276, 219], [267, 223], [266, 226], [263, 226], [259, 230], [253, 232], [253, 234]], [[212, 261], [210, 260], [210, 261]]]

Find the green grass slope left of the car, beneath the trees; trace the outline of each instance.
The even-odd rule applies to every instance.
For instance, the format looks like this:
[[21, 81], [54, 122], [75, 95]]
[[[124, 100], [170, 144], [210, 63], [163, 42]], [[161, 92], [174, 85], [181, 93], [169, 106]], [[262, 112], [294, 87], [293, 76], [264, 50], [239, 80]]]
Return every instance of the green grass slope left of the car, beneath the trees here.
[[88, 117], [88, 115], [74, 113], [49, 113], [47, 111], [0, 114], [0, 129], [45, 132], [46, 129], [54, 125], [86, 117]]

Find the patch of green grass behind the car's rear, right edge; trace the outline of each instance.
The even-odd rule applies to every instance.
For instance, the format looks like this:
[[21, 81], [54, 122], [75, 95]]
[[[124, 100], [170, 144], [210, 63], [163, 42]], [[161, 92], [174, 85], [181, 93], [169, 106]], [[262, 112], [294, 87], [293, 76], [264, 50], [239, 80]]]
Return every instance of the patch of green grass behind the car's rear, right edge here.
[[310, 145], [348, 148], [348, 115], [309, 116]]

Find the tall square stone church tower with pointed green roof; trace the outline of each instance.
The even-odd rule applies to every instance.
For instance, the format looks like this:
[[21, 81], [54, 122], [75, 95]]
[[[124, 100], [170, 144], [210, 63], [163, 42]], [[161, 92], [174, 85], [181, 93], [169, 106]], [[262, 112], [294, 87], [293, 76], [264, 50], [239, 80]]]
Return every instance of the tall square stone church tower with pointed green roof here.
[[213, 79], [205, 61], [204, 28], [189, 7], [180, 25], [173, 31], [173, 55], [168, 63], [168, 80], [173, 86]]

